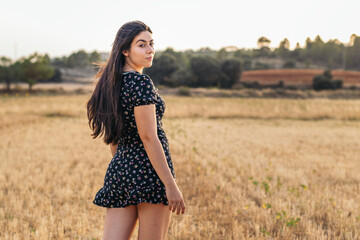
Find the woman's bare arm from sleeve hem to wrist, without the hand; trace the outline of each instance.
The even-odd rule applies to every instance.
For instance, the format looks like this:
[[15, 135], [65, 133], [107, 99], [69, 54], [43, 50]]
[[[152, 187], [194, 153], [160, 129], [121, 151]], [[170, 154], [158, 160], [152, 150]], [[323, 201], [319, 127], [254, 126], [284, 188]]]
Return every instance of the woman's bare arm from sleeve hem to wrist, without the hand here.
[[170, 172], [164, 150], [157, 135], [155, 105], [136, 106], [134, 115], [139, 136], [156, 173], [166, 188], [175, 187], [175, 180]]

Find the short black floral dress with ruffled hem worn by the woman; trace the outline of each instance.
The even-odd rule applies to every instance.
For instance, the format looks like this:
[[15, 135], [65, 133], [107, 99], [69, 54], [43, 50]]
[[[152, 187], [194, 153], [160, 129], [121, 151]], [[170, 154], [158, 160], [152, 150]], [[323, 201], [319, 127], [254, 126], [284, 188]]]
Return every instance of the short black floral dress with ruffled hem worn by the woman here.
[[93, 203], [108, 208], [127, 207], [141, 202], [169, 205], [165, 186], [146, 154], [134, 117], [135, 106], [155, 104], [157, 135], [175, 179], [169, 144], [161, 122], [165, 102], [148, 75], [129, 71], [124, 72], [123, 77], [120, 110], [124, 130], [107, 168], [104, 185], [96, 193]]

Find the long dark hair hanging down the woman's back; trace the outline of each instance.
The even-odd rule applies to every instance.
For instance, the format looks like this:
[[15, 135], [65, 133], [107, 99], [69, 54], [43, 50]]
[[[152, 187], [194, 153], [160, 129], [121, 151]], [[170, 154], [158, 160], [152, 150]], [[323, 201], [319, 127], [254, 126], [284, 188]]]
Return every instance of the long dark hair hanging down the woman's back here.
[[142, 31], [151, 29], [141, 21], [127, 22], [118, 30], [112, 50], [105, 63], [99, 63], [95, 75], [98, 79], [94, 92], [87, 103], [89, 127], [93, 138], [104, 135], [104, 142], [117, 143], [123, 130], [120, 109], [123, 83], [124, 50], [129, 50], [134, 38]]

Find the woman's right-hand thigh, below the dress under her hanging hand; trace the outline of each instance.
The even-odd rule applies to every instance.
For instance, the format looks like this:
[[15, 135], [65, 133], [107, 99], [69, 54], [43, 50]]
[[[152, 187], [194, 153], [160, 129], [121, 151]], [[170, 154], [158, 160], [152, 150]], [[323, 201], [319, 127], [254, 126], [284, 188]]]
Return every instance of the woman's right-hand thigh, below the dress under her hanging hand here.
[[171, 219], [169, 206], [162, 203], [139, 203], [137, 209], [139, 217], [138, 240], [165, 240]]

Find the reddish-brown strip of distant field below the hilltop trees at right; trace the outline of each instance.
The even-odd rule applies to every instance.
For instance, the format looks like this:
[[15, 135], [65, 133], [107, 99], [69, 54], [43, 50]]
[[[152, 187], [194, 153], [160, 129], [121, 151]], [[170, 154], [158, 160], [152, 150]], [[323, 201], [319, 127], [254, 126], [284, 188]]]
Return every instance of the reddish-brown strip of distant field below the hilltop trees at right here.
[[[319, 69], [269, 69], [245, 71], [241, 81], [258, 81], [260, 84], [274, 84], [283, 80], [285, 85], [311, 85], [315, 75], [322, 74]], [[360, 86], [360, 72], [333, 70], [334, 79], [343, 79], [344, 86]]]

